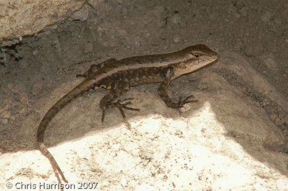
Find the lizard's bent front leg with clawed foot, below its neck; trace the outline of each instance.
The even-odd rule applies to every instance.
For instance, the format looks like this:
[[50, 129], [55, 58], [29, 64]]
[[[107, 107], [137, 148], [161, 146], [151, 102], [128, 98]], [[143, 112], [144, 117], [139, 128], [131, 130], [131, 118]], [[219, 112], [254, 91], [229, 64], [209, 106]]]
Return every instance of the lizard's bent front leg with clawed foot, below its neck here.
[[186, 103], [198, 102], [197, 100], [190, 100], [190, 98], [194, 98], [193, 95], [187, 96], [183, 100], [180, 96], [179, 101], [177, 103], [172, 102], [170, 97], [167, 94], [167, 88], [170, 83], [171, 83], [171, 80], [169, 78], [166, 78], [161, 82], [158, 88], [158, 94], [162, 98], [162, 100], [166, 103], [166, 105], [172, 108], [179, 108], [179, 107], [182, 107]]

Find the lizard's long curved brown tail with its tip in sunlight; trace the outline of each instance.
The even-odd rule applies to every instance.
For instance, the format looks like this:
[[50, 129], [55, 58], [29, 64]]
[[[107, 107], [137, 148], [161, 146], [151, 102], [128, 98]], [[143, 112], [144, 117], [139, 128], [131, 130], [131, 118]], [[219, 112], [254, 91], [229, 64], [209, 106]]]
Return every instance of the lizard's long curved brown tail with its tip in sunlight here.
[[[93, 87], [94, 90], [97, 90], [99, 88], [95, 88]], [[63, 96], [61, 99], [59, 99], [50, 109], [49, 111], [45, 114], [45, 116], [43, 117], [42, 121], [39, 124], [38, 130], [37, 130], [37, 143], [39, 146], [39, 150], [42, 152], [42, 154], [44, 156], [46, 156], [50, 163], [51, 166], [55, 172], [55, 176], [58, 180], [59, 183], [61, 183], [59, 174], [61, 175], [63, 181], [65, 181], [67, 183], [67, 180], [61, 170], [61, 168], [59, 167], [59, 165], [57, 164], [55, 158], [53, 157], [53, 155], [49, 152], [49, 150], [47, 149], [47, 146], [44, 143], [44, 133], [45, 130], [48, 126], [48, 124], [50, 123], [50, 121], [55, 117], [55, 115], [68, 103], [70, 103], [73, 99], [85, 94], [86, 92], [89, 92], [91, 90], [90, 87], [85, 86], [85, 81], [80, 83], [78, 86], [76, 86], [74, 89], [72, 89], [68, 94], [66, 94], [65, 96]]]

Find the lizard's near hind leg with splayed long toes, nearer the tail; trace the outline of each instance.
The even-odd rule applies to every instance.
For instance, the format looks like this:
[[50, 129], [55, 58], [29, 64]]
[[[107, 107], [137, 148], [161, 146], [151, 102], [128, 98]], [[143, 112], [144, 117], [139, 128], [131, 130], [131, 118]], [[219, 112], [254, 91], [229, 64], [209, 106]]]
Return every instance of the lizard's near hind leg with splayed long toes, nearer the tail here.
[[123, 109], [129, 109], [129, 110], [134, 110], [134, 111], [139, 111], [140, 109], [137, 108], [132, 108], [132, 107], [128, 107], [127, 105], [130, 104], [130, 101], [126, 101], [123, 103], [123, 100], [118, 100], [116, 102], [112, 102], [114, 101], [117, 97], [123, 95], [124, 93], [126, 93], [128, 90], [130, 89], [130, 85], [129, 83], [126, 82], [118, 82], [115, 84], [115, 87], [113, 90], [110, 91], [110, 93], [108, 93], [106, 96], [104, 96], [99, 103], [100, 108], [102, 109], [102, 122], [104, 121], [104, 117], [105, 117], [105, 110], [107, 108], [111, 108], [111, 107], [118, 107], [124, 122], [126, 123], [128, 129], [131, 129], [131, 125], [128, 123], [127, 119], [126, 119], [126, 115], [123, 111]]

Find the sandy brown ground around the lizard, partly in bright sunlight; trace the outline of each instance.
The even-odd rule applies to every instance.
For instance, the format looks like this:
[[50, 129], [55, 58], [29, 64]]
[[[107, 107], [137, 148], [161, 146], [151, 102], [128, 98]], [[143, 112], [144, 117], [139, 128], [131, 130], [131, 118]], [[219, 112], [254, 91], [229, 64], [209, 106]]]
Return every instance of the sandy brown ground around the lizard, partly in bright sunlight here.
[[8, 48], [14, 53], [0, 65], [0, 190], [57, 183], [35, 135], [47, 110], [81, 82], [76, 74], [109, 58], [195, 44], [220, 59], [171, 84], [173, 100], [190, 94], [199, 100], [190, 110], [168, 108], [158, 84], [150, 84], [123, 96], [141, 109], [127, 111], [130, 131], [117, 109], [101, 123], [105, 91], [74, 100], [56, 116], [45, 142], [67, 179], [76, 188], [98, 183], [101, 191], [287, 190], [284, 0], [273, 6], [269, 0], [91, 4], [98, 11], [85, 5], [91, 9], [86, 19], [71, 17]]

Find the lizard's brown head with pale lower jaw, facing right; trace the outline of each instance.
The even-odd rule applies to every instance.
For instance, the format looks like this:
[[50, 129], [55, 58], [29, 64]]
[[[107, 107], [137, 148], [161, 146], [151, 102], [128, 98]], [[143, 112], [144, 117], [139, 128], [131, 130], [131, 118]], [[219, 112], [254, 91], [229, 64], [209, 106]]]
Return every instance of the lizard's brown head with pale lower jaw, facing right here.
[[175, 78], [214, 62], [219, 56], [206, 45], [195, 45], [180, 50], [183, 60], [174, 64]]

